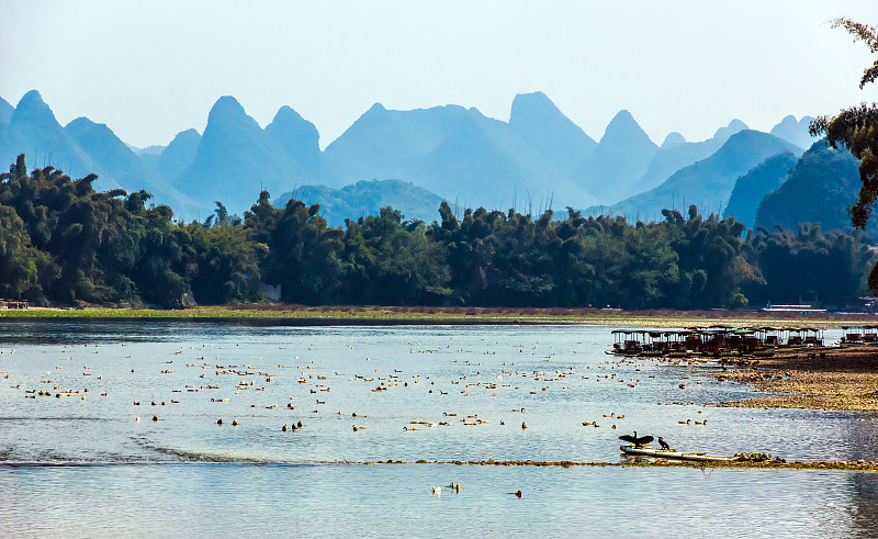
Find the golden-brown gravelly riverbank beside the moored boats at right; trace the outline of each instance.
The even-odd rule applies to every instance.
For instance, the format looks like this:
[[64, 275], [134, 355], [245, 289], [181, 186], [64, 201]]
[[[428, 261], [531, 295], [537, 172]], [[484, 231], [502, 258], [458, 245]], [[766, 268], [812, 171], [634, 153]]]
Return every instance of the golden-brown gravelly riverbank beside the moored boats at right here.
[[878, 412], [878, 346], [785, 350], [716, 377], [780, 393], [732, 406]]

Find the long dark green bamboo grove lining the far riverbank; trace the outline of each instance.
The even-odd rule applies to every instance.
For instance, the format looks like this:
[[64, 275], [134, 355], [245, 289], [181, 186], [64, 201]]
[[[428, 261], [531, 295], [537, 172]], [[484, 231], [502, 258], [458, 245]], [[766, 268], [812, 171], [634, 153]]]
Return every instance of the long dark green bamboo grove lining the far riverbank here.
[[695, 206], [629, 224], [442, 203], [431, 224], [385, 207], [331, 228], [319, 206], [273, 207], [262, 192], [244, 217], [217, 203], [179, 223], [149, 193], [97, 192], [95, 179], [29, 175], [24, 156], [0, 175], [0, 296], [179, 307], [258, 302], [269, 283], [311, 305], [735, 308], [855, 297], [877, 258], [862, 232], [746, 232]]

